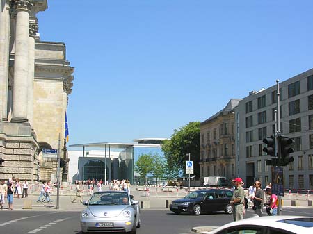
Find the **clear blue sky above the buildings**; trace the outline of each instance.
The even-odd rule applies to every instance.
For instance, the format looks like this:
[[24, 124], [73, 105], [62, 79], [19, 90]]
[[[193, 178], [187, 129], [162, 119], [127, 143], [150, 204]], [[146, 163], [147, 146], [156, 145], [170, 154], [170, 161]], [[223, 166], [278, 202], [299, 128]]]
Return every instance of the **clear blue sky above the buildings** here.
[[48, 0], [75, 67], [69, 144], [170, 137], [313, 67], [313, 1]]

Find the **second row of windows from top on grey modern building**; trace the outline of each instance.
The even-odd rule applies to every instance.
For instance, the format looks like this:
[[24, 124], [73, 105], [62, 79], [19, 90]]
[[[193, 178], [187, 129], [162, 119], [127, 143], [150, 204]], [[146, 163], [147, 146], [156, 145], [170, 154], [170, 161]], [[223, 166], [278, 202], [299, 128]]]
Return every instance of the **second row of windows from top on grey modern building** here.
[[[308, 110], [313, 110], [313, 95], [310, 95], [307, 97], [308, 99]], [[301, 112], [301, 100], [297, 99], [295, 101], [291, 101], [288, 103], [288, 110], [289, 110], [289, 116], [296, 115]], [[272, 108], [272, 119], [271, 121], [275, 120], [275, 110], [276, 108]], [[280, 114], [282, 113], [282, 106], [280, 106]], [[282, 118], [282, 115], [280, 115], [280, 118]], [[266, 110], [257, 113], [257, 124], [264, 124], [266, 123]], [[246, 128], [250, 128], [254, 126], [253, 124], [253, 115], [250, 115], [246, 117], [245, 119], [245, 126]]]

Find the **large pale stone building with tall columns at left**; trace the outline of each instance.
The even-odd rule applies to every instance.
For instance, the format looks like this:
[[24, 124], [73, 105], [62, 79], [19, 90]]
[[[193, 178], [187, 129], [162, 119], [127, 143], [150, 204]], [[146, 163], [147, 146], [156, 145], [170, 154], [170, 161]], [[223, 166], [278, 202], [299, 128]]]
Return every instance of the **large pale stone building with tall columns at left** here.
[[[67, 160], [65, 112], [74, 68], [62, 42], [40, 41], [38, 12], [47, 0], [0, 0], [0, 179], [48, 181], [56, 160], [41, 157], [58, 149]], [[63, 170], [67, 181], [67, 167]]]

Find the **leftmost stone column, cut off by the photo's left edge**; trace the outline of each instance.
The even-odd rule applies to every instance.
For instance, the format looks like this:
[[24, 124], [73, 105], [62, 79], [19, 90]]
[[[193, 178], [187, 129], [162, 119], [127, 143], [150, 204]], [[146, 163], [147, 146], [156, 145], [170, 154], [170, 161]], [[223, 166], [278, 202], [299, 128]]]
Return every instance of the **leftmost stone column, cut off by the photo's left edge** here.
[[10, 43], [10, 8], [0, 1], [0, 121], [8, 121], [8, 55]]

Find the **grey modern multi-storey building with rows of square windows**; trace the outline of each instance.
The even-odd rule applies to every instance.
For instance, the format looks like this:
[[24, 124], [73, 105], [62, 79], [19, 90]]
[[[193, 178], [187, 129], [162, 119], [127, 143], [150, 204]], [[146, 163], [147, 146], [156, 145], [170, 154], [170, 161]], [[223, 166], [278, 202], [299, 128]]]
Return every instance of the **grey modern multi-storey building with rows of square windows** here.
[[[250, 92], [235, 108], [238, 174], [246, 186], [271, 182], [271, 166], [266, 165], [271, 156], [262, 151], [262, 140], [275, 133], [276, 94], [276, 85]], [[284, 167], [284, 187], [313, 190], [313, 69], [280, 83], [280, 131], [295, 141], [294, 162]]]

